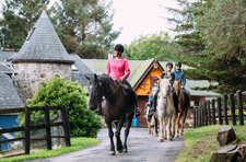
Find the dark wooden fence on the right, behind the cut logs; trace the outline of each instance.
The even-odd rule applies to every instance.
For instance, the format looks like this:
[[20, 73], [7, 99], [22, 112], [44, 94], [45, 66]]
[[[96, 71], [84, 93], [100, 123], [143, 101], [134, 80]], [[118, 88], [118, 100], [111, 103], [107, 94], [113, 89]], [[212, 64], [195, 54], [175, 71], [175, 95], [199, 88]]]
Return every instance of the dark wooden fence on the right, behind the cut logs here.
[[[216, 125], [229, 125], [231, 121], [234, 126], [236, 125], [236, 117], [238, 117], [239, 125], [244, 125], [244, 109], [246, 106], [243, 105], [242, 99], [246, 95], [246, 92], [237, 91], [235, 94], [224, 94], [223, 97], [216, 97], [211, 101], [204, 101], [198, 108], [194, 108], [194, 128]], [[236, 103], [235, 104], [235, 100]], [[227, 103], [230, 103], [227, 105]], [[236, 109], [238, 115], [236, 115]], [[231, 115], [229, 115], [229, 112]]]

